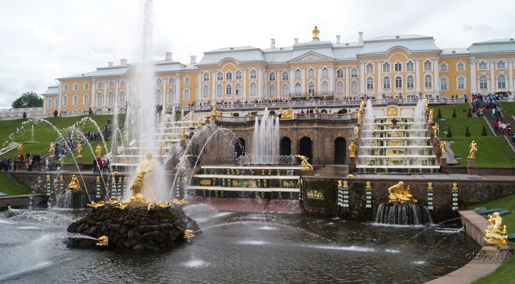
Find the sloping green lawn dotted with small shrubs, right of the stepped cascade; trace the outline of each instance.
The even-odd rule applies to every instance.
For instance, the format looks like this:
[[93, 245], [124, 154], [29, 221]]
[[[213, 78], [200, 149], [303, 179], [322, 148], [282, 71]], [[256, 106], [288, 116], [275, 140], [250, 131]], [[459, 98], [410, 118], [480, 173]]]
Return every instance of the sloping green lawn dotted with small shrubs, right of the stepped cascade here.
[[[469, 146], [472, 140], [474, 140], [477, 143], [477, 152], [475, 154], [476, 166], [511, 167], [509, 158], [515, 158], [515, 153], [513, 153], [504, 137], [493, 136], [483, 118], [467, 117], [468, 110], [470, 109], [468, 104], [439, 105], [436, 108], [430, 108], [435, 109], [433, 121], [438, 122], [440, 127], [439, 137], [454, 141], [450, 145], [455, 157], [463, 157], [457, 160], [459, 166], [468, 165]], [[441, 110], [442, 118], [447, 119], [447, 121], [438, 121], [439, 118], [436, 118], [438, 109]], [[454, 109], [456, 109], [457, 116], [455, 118], [452, 117]], [[466, 112], [463, 112], [463, 110], [466, 110]], [[487, 136], [481, 136], [483, 126], [487, 131]], [[442, 132], [448, 131], [449, 127], [451, 127], [452, 137], [448, 138]], [[469, 127], [470, 137], [465, 137], [467, 127]]]

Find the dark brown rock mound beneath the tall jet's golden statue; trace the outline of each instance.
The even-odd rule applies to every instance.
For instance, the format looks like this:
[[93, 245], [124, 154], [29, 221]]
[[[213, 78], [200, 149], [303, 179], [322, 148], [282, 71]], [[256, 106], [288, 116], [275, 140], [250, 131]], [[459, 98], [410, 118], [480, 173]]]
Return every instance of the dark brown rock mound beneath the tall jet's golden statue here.
[[[185, 241], [186, 229], [195, 232], [199, 227], [195, 220], [186, 216], [182, 206], [174, 204], [171, 208], [156, 206], [153, 210], [139, 206], [121, 210], [106, 205], [93, 209], [86, 217], [70, 224], [67, 230], [96, 239], [107, 236], [107, 247], [113, 249], [159, 251]], [[72, 247], [98, 247], [96, 239], [72, 236], [66, 243]]]

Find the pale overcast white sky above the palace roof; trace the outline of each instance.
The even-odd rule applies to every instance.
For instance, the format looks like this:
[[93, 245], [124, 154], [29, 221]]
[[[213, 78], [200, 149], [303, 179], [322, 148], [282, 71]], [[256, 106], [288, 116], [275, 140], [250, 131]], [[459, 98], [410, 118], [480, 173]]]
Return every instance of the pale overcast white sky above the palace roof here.
[[[485, 6], [485, 4], [487, 4]], [[165, 1], [155, 0], [153, 51], [189, 63], [220, 47], [291, 46], [294, 38], [355, 42], [399, 34], [433, 36], [440, 48], [515, 37], [514, 1]], [[119, 59], [140, 61], [141, 0], [0, 0], [0, 109], [55, 78]]]

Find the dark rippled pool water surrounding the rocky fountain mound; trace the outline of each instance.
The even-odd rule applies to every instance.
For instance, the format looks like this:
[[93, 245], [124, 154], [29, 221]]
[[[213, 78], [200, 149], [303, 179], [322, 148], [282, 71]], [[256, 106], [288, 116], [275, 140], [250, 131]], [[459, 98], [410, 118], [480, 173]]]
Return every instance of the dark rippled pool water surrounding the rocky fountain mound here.
[[456, 270], [468, 262], [466, 254], [479, 249], [464, 232], [442, 226], [195, 206], [185, 211], [204, 234], [173, 250], [67, 248], [67, 225], [88, 211], [0, 212], [0, 282], [422, 283]]

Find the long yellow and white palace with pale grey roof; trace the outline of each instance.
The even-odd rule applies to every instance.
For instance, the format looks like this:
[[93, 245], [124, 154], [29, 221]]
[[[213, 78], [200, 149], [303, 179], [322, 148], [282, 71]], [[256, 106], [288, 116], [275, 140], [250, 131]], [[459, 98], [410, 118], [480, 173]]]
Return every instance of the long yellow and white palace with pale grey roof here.
[[[462, 97], [513, 92], [515, 41], [489, 40], [468, 48], [439, 48], [433, 37], [416, 34], [357, 42], [313, 40], [270, 48], [226, 47], [204, 52], [197, 63], [154, 62], [153, 99], [163, 107], [220, 101], [333, 98]], [[139, 100], [138, 63], [58, 78], [43, 93], [45, 113], [125, 111]], [[469, 97], [470, 98], [470, 97]]]

